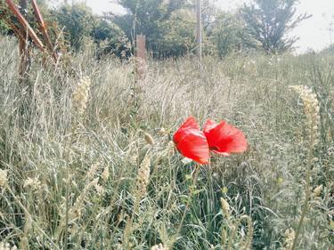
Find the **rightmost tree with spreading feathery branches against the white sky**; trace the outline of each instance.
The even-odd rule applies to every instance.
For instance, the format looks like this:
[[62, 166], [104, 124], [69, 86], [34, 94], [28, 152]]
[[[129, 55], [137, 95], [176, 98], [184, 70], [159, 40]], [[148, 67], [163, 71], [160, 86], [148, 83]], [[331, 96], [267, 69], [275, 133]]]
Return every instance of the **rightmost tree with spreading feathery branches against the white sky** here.
[[311, 16], [296, 16], [298, 0], [254, 0], [244, 5], [240, 12], [246, 21], [247, 32], [256, 41], [244, 41], [249, 46], [258, 45], [266, 53], [286, 52], [296, 43], [297, 37], [287, 37], [289, 31]]

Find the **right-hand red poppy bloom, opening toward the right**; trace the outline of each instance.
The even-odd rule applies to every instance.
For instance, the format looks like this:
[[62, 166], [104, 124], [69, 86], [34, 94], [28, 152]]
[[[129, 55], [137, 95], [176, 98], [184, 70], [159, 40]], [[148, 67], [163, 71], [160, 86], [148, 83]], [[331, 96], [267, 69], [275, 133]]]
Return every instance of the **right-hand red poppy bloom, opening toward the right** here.
[[229, 156], [231, 153], [241, 153], [247, 149], [245, 135], [225, 121], [217, 125], [214, 121], [208, 120], [203, 132], [207, 137], [209, 149], [216, 154]]

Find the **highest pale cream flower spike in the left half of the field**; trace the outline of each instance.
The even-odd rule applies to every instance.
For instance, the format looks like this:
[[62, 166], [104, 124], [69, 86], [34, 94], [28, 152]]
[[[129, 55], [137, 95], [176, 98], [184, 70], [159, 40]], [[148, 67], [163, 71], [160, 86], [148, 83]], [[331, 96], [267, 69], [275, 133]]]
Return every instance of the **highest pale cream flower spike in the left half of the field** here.
[[73, 108], [77, 111], [78, 115], [83, 115], [86, 111], [90, 85], [91, 80], [88, 77], [83, 77], [72, 93]]

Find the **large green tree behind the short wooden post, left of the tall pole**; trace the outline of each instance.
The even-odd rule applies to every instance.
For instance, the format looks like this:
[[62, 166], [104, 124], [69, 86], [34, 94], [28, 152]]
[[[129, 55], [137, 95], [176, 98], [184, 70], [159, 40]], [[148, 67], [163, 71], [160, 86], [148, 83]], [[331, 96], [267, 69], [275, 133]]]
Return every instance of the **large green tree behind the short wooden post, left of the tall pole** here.
[[[146, 36], [147, 47], [156, 57], [183, 55], [189, 40], [194, 39], [195, 27], [184, 28], [184, 21], [192, 25], [187, 10], [193, 6], [187, 0], [118, 0], [118, 4], [126, 14], [113, 15], [112, 20], [132, 42], [135, 34]], [[169, 48], [171, 52], [167, 52]]]

